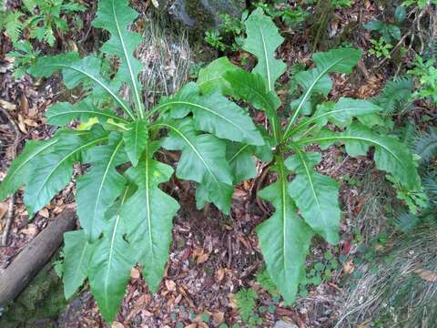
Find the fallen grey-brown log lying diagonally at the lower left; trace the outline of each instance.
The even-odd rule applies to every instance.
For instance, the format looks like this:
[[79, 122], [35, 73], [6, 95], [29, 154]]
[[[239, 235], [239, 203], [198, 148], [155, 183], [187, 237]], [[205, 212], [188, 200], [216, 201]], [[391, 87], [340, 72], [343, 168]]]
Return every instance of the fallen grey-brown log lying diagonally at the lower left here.
[[63, 211], [0, 273], [0, 306], [14, 301], [25, 289], [61, 246], [64, 232], [75, 228], [75, 222], [74, 211]]

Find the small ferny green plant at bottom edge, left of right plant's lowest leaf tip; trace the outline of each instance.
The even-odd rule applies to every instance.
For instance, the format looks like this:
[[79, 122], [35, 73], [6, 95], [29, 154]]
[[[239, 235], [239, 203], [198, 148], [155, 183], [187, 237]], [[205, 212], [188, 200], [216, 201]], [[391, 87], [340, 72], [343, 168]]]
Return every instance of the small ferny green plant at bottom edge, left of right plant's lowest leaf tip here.
[[258, 294], [251, 288], [243, 288], [235, 294], [235, 302], [239, 310], [241, 321], [246, 323], [249, 328], [262, 324], [262, 319], [255, 312]]

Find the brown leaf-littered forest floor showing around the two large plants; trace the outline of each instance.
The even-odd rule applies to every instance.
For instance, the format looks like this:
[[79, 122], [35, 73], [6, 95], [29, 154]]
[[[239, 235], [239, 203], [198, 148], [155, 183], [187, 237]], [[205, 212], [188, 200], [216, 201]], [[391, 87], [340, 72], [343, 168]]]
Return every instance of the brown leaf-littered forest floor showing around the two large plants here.
[[[91, 4], [90, 6], [93, 7]], [[90, 27], [93, 14], [92, 11], [81, 14], [84, 20], [83, 29], [66, 34], [64, 42], [56, 50], [41, 50], [60, 53], [66, 45], [74, 45], [82, 53], [95, 49], [100, 40], [94, 28]], [[361, 20], [359, 26], [362, 26], [362, 23], [380, 14], [380, 9], [371, 1], [359, 1], [351, 8], [336, 10], [328, 27], [327, 37], [338, 36], [344, 26], [356, 21], [357, 17]], [[309, 61], [309, 34], [309, 28], [300, 28], [297, 32], [284, 31], [286, 41], [280, 47], [278, 56], [284, 59], [288, 67], [297, 62], [306, 64]], [[370, 38], [370, 31], [357, 27], [351, 32], [348, 42], [366, 50], [370, 47]], [[5, 54], [10, 50], [11, 45], [5, 36], [0, 36], [0, 43], [1, 53]], [[320, 44], [322, 49], [324, 40]], [[239, 63], [239, 54], [232, 56], [232, 59]], [[405, 62], [411, 59], [402, 58]], [[247, 65], [252, 64], [249, 60]], [[402, 64], [403, 62], [393, 63], [391, 60], [385, 60], [381, 64], [381, 60], [365, 55], [354, 74], [332, 76], [334, 87], [330, 98], [373, 97], [380, 92], [387, 79], [397, 73]], [[19, 152], [25, 140], [51, 136], [55, 128], [46, 125], [46, 108], [59, 99], [75, 97], [61, 87], [57, 78], [39, 80], [25, 76], [15, 80], [12, 73], [12, 63], [8, 58], [0, 57], [0, 106], [10, 113], [19, 130], [17, 136], [11, 129], [11, 122], [0, 115], [0, 180], [5, 176], [12, 160], [15, 138], [19, 138]], [[288, 82], [287, 76], [279, 79], [283, 86], [279, 97], [287, 97]], [[419, 109], [412, 115], [420, 120], [422, 111], [428, 109], [421, 109], [421, 103], [416, 106]], [[262, 122], [264, 118], [257, 116], [256, 119]], [[217, 327], [220, 323], [231, 326], [239, 323], [235, 293], [248, 286], [258, 292], [257, 306], [263, 327], [272, 327], [280, 320], [296, 324], [299, 328], [333, 326], [340, 315], [343, 302], [348, 297], [348, 284], [356, 278], [353, 272], [354, 265], [361, 261], [360, 244], [378, 237], [385, 229], [387, 222], [384, 220], [384, 210], [370, 209], [370, 200], [380, 197], [381, 190], [385, 187], [383, 174], [374, 169], [371, 157], [350, 159], [336, 147], [321, 153], [322, 161], [317, 169], [342, 181], [340, 243], [337, 246], [321, 240], [313, 243], [307, 266], [313, 268], [315, 263], [327, 265], [331, 259], [337, 260], [339, 265], [337, 268], [332, 267], [328, 278], [317, 286], [310, 285], [307, 292], [300, 293], [293, 306], [287, 306], [278, 297], [267, 292], [256, 278], [264, 264], [254, 227], [265, 220], [271, 210], [269, 205], [252, 199], [252, 190], [257, 188], [256, 181], [249, 180], [235, 189], [229, 217], [220, 214], [213, 207], [208, 211], [196, 210], [192, 188], [187, 185], [184, 192], [172, 191], [181, 200], [181, 210], [174, 220], [173, 244], [165, 278], [158, 292], [148, 292], [140, 267], [132, 269], [122, 308], [112, 327], [195, 328]], [[260, 173], [263, 168], [259, 165], [258, 169]], [[371, 189], [371, 186], [378, 183], [381, 184], [380, 190]], [[171, 190], [171, 185], [166, 188]], [[386, 188], [383, 192], [387, 203], [390, 203], [390, 199], [394, 198], [394, 191]], [[74, 194], [75, 184], [72, 182], [50, 205], [36, 213], [33, 220], [29, 220], [22, 192], [19, 191], [7, 246], [0, 250], [0, 268], [4, 269], [13, 261], [16, 254], [44, 230], [58, 213], [75, 209]], [[0, 216], [3, 216], [7, 202], [0, 205]], [[80, 302], [70, 306], [64, 318], [68, 318], [68, 321], [61, 325], [66, 327], [107, 326], [87, 288], [81, 292]]]

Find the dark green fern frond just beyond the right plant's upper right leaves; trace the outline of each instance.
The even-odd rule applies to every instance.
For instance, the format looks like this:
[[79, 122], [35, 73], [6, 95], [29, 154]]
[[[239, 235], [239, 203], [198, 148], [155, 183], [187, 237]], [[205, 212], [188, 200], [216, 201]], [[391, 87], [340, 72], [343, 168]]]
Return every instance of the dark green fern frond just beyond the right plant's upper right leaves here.
[[395, 78], [387, 82], [382, 88], [381, 94], [375, 98], [375, 102], [388, 115], [408, 110], [411, 108], [408, 99], [412, 96], [413, 87], [412, 77]]

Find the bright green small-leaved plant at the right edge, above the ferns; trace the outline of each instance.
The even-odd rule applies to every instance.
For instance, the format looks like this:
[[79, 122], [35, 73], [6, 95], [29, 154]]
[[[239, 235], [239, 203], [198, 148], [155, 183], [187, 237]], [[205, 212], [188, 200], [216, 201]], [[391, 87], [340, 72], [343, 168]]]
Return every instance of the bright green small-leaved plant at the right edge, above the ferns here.
[[413, 69], [408, 74], [417, 80], [417, 90], [413, 97], [422, 99], [429, 98], [437, 104], [437, 64], [434, 58], [423, 61], [422, 56], [416, 56]]

